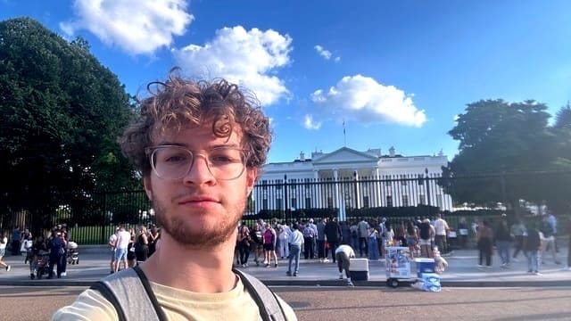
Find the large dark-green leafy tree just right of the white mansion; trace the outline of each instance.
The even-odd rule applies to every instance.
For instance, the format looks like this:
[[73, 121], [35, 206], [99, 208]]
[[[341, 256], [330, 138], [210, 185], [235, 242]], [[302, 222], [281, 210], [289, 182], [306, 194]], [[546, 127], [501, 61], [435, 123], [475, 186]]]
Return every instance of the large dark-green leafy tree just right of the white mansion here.
[[544, 199], [543, 182], [535, 184], [535, 177], [517, 173], [549, 169], [555, 159], [546, 110], [545, 104], [533, 100], [469, 103], [449, 131], [459, 141], [459, 154], [443, 168], [440, 184], [446, 192], [456, 202], [485, 206]]

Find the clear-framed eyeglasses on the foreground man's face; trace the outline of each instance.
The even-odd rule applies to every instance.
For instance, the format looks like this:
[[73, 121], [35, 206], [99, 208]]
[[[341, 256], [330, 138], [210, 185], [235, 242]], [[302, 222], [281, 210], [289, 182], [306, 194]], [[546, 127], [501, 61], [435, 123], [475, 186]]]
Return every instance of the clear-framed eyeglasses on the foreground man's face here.
[[236, 179], [244, 173], [246, 156], [233, 147], [216, 147], [204, 152], [191, 152], [178, 145], [159, 145], [145, 148], [154, 173], [163, 179], [178, 180], [192, 169], [194, 160], [202, 155], [212, 177], [219, 180]]

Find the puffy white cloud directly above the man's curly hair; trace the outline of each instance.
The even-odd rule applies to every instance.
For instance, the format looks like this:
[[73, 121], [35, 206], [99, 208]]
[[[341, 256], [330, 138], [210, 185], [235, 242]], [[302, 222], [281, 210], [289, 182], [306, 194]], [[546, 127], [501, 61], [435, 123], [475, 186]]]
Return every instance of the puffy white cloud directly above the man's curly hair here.
[[276, 103], [289, 91], [276, 71], [291, 62], [292, 38], [272, 29], [246, 31], [242, 26], [216, 31], [204, 45], [173, 50], [178, 66], [204, 78], [226, 78], [254, 92], [262, 105]]

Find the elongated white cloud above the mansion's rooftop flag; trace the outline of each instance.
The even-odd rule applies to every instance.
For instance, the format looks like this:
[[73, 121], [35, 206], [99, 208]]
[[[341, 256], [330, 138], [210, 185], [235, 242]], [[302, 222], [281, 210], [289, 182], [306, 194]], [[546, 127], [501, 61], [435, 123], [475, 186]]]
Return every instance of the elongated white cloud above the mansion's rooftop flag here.
[[361, 75], [343, 77], [327, 92], [316, 90], [311, 100], [323, 115], [339, 114], [363, 123], [387, 121], [420, 127], [426, 122], [425, 111], [418, 111], [410, 95]]

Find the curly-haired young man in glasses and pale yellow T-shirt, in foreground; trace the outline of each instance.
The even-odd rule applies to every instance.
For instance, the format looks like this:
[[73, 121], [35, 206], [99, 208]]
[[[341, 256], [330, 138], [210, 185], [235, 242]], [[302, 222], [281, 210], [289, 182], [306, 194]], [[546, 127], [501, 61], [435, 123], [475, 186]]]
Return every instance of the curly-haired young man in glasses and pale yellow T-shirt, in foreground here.
[[[254, 300], [245, 278], [232, 270], [232, 258], [236, 226], [269, 151], [269, 119], [255, 98], [223, 79], [193, 82], [171, 72], [166, 82], [152, 85], [152, 95], [141, 103], [141, 117], [121, 146], [144, 177], [161, 242], [140, 268], [103, 282], [128, 283], [121, 276], [136, 271], [149, 281], [145, 290], [155, 300], [159, 318], [259, 320], [264, 307]], [[138, 304], [120, 302], [120, 308]], [[293, 309], [278, 302], [285, 319], [296, 320]], [[78, 316], [116, 320], [119, 314], [101, 291], [90, 289], [53, 318]]]

